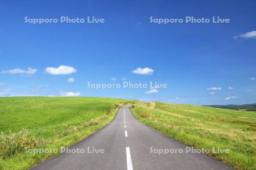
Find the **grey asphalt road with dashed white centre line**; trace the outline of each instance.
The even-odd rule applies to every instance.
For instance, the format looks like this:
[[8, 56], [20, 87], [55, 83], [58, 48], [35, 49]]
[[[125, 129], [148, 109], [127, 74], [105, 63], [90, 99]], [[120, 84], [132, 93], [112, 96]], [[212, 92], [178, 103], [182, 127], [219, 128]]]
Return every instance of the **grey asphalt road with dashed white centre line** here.
[[[160, 153], [162, 149], [166, 154]], [[32, 169], [232, 169], [141, 124], [127, 107], [119, 109], [109, 125], [67, 152]]]

